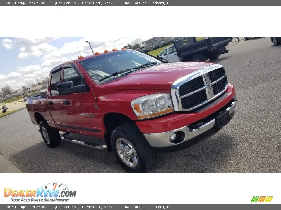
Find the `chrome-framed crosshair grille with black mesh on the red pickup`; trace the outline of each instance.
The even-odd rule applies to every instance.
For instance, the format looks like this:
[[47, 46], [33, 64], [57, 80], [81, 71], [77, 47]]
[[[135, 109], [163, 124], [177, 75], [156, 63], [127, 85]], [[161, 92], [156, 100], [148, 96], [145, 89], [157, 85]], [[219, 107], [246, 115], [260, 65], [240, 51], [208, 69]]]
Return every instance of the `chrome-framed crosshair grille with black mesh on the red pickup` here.
[[225, 69], [219, 64], [184, 76], [172, 84], [175, 111], [191, 111], [220, 96], [227, 89]]

